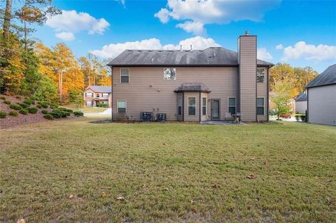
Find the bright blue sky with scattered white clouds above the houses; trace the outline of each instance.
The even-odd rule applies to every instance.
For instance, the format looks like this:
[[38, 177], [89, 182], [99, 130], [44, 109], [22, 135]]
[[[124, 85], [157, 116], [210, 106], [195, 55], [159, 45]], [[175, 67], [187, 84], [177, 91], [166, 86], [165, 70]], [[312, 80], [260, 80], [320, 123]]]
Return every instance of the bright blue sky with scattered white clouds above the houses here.
[[[336, 1], [61, 1], [63, 14], [37, 27], [45, 45], [64, 42], [77, 57], [114, 57], [125, 48], [237, 50], [245, 30], [258, 35], [258, 57], [311, 66], [336, 64]], [[58, 37], [57, 37], [58, 36]]]

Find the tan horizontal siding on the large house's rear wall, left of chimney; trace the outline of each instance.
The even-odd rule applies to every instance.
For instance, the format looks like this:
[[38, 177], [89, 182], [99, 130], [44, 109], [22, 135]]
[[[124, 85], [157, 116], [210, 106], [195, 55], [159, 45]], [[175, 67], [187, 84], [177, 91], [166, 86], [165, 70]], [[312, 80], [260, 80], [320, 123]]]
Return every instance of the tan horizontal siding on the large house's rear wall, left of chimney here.
[[[126, 115], [130, 120], [139, 120], [141, 112], [153, 112], [154, 116], [157, 113], [167, 113], [167, 120], [177, 120], [177, 95], [174, 89], [184, 82], [202, 82], [211, 90], [207, 97], [209, 120], [211, 114], [209, 99], [221, 99], [223, 120], [228, 110], [228, 97], [237, 97], [239, 71], [237, 67], [176, 67], [176, 80], [170, 81], [164, 80], [163, 69], [164, 67], [130, 67], [130, 83], [120, 84], [118, 75], [120, 68], [113, 67], [113, 74], [117, 74], [113, 75], [113, 117], [116, 120], [125, 119]], [[188, 117], [190, 95], [196, 98], [195, 117]], [[117, 113], [117, 100], [127, 100], [127, 114]], [[200, 93], [185, 92], [184, 105], [184, 121], [198, 122]]]

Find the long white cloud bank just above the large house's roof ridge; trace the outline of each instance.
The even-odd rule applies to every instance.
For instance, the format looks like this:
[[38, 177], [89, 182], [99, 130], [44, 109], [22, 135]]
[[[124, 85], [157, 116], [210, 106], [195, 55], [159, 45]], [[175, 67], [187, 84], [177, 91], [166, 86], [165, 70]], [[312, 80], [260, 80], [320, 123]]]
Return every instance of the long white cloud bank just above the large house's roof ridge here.
[[184, 50], [190, 50], [190, 45], [193, 45], [194, 50], [203, 50], [211, 46], [220, 46], [212, 38], [203, 38], [195, 36], [180, 41], [178, 45], [167, 44], [162, 45], [158, 38], [150, 38], [142, 41], [125, 42], [125, 43], [111, 43], [104, 45], [102, 50], [92, 50], [91, 53], [98, 57], [116, 57], [124, 50], [179, 50], [180, 45]]

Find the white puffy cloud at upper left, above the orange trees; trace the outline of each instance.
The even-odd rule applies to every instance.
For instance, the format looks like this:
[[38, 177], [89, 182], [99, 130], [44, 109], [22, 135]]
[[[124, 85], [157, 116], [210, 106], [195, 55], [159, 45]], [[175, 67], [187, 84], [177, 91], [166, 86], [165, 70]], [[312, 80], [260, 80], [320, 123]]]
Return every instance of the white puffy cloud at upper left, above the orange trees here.
[[58, 33], [76, 34], [87, 31], [88, 34], [101, 35], [110, 25], [104, 18], [96, 19], [88, 13], [77, 13], [76, 10], [62, 10], [62, 14], [48, 18], [45, 24]]

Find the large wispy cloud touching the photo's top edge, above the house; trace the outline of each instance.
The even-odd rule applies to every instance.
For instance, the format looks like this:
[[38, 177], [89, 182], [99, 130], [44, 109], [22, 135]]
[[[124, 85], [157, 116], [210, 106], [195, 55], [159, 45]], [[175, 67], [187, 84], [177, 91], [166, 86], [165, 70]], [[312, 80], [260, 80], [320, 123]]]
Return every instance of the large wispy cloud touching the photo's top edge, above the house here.
[[[218, 1], [218, 0], [168, 0], [167, 8], [161, 8], [155, 17], [162, 23], [169, 19], [187, 20], [202, 24], [225, 24], [232, 21], [260, 22], [267, 10], [279, 6], [274, 1]], [[186, 30], [187, 31], [187, 30]]]

